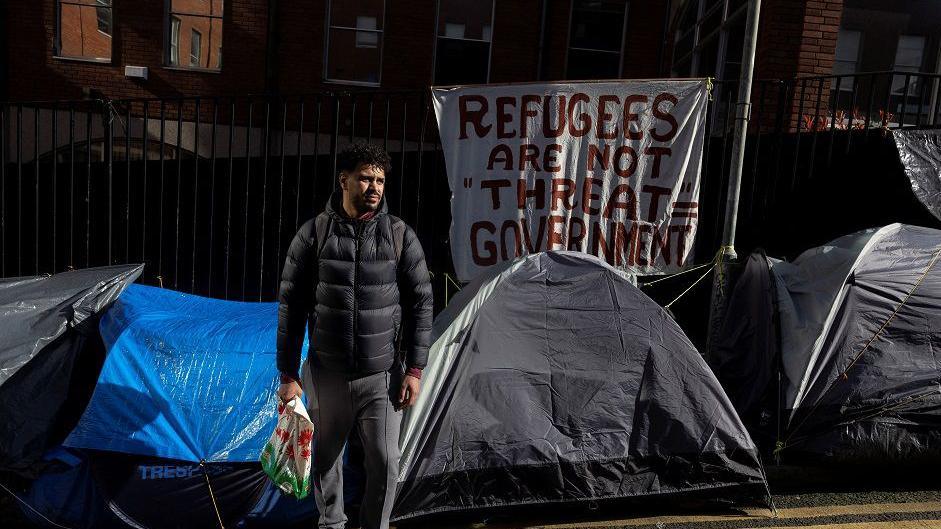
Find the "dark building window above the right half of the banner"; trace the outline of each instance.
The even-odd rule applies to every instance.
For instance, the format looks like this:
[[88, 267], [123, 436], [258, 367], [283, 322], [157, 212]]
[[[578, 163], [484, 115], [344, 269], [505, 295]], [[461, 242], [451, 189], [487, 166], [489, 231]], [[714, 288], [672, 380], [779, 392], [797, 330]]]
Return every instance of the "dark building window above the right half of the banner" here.
[[624, 0], [572, 0], [566, 77], [620, 77], [626, 23]]

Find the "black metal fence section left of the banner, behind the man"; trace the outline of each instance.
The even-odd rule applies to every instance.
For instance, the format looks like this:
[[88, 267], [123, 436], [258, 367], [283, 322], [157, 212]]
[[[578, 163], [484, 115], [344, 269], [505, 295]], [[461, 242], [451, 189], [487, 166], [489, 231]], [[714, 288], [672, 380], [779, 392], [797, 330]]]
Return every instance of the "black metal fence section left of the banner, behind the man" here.
[[429, 222], [448, 207], [447, 183], [426, 176], [443, 174], [429, 110], [415, 92], [2, 105], [0, 275], [144, 262], [148, 283], [271, 299], [353, 141], [390, 153], [390, 208], [446, 270], [448, 223]]

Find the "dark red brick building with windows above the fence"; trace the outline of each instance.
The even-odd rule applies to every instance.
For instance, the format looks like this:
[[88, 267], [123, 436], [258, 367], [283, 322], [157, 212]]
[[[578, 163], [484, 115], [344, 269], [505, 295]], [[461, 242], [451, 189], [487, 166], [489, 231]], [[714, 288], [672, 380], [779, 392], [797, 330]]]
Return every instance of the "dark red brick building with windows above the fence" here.
[[[733, 79], [746, 4], [12, 0], [0, 8], [9, 72], [0, 95], [36, 100], [79, 98], [87, 89], [123, 98], [671, 75]], [[941, 8], [933, 4], [764, 0], [756, 75], [842, 73], [851, 63], [860, 71], [936, 71]], [[892, 53], [899, 36], [905, 37], [901, 55]], [[146, 67], [147, 79], [127, 77], [125, 66]]]

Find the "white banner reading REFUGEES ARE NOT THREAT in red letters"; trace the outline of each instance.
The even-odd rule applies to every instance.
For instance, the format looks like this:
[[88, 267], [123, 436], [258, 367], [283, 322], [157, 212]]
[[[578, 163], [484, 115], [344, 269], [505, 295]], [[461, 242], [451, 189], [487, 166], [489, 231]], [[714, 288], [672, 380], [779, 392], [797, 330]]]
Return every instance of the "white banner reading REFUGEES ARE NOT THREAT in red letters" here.
[[707, 81], [433, 88], [458, 278], [575, 250], [680, 270], [699, 206]]

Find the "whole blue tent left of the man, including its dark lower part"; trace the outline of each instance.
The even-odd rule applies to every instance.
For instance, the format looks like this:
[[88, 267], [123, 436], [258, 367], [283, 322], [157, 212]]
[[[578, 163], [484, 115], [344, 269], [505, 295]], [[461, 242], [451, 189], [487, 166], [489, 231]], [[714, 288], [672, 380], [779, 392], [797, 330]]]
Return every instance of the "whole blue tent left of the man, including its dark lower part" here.
[[[312, 518], [313, 496], [282, 496], [258, 463], [277, 419], [276, 329], [277, 303], [130, 285], [102, 317], [108, 356], [69, 457], [30, 491], [40, 512], [75, 527], [90, 513], [97, 527], [136, 528], [169, 513], [193, 528]], [[40, 501], [68, 490], [84, 492]]]

